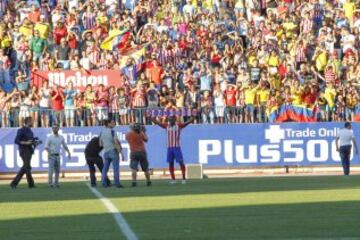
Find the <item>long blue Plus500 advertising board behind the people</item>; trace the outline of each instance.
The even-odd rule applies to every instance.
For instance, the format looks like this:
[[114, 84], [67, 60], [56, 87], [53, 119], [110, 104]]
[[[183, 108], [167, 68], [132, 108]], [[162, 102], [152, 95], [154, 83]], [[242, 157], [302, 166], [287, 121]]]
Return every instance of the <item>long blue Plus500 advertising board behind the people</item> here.
[[[240, 125], [190, 125], [181, 132], [181, 146], [186, 163], [201, 163], [204, 167], [284, 166], [284, 165], [338, 165], [339, 153], [335, 138], [343, 123], [282, 123]], [[353, 124], [354, 133], [360, 125]], [[60, 134], [66, 139], [71, 159], [63, 152], [62, 171], [86, 171], [84, 149], [87, 142], [101, 132], [101, 127], [63, 128]], [[125, 161], [129, 166], [129, 145], [125, 140], [128, 127], [116, 127], [122, 143]], [[46, 138], [51, 129], [33, 129], [35, 136], [44, 141], [33, 155], [33, 171], [46, 171]], [[0, 172], [15, 172], [22, 166], [17, 145], [17, 129], [0, 129]], [[150, 166], [167, 168], [166, 131], [148, 126], [146, 144]], [[358, 136], [357, 141], [360, 142]], [[359, 158], [351, 155], [352, 164]]]

